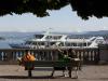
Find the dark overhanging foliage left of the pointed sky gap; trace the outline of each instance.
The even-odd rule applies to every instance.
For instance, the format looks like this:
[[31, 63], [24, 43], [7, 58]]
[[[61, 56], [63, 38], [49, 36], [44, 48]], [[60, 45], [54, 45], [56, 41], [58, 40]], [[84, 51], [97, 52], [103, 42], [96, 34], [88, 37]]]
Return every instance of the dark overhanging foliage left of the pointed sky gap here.
[[67, 0], [0, 0], [0, 16], [30, 12], [43, 17], [49, 15], [46, 10], [59, 10], [67, 4]]

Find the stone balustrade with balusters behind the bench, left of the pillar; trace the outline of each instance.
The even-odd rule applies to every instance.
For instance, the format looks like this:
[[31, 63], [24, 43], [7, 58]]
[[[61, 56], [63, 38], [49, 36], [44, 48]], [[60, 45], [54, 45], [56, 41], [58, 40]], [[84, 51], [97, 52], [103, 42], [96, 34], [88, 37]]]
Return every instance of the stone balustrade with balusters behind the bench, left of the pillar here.
[[[63, 51], [67, 49], [62, 49]], [[29, 50], [37, 60], [55, 60], [58, 57], [57, 49], [39, 49]], [[82, 64], [98, 64], [99, 51], [98, 49], [75, 49], [77, 56], [82, 60]], [[25, 50], [22, 49], [0, 49], [0, 65], [17, 64], [17, 57], [22, 57]]]

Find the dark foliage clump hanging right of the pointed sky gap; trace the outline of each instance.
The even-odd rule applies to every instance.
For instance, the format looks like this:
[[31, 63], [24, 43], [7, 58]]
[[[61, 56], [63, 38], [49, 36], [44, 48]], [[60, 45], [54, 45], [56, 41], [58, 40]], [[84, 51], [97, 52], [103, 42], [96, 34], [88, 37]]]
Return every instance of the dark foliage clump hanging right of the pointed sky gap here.
[[108, 16], [108, 0], [70, 0], [73, 11], [84, 19]]

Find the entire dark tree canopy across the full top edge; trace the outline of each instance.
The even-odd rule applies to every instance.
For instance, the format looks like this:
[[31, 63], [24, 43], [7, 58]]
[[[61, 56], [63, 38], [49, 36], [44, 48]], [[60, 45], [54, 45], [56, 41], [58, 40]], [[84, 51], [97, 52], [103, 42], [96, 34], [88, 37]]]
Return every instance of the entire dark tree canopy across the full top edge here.
[[32, 13], [43, 17], [50, 15], [48, 10], [59, 10], [68, 4], [84, 19], [108, 16], [107, 0], [0, 0], [0, 16]]

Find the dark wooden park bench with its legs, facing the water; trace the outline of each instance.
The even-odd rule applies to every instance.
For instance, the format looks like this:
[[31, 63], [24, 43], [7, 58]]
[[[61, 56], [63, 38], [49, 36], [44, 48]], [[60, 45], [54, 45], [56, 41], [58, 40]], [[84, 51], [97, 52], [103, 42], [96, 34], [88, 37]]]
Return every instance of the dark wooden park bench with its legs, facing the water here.
[[63, 60], [35, 60], [35, 62], [25, 62], [25, 70], [28, 70], [28, 77], [32, 77], [31, 71], [32, 67], [75, 67], [76, 76], [78, 78], [77, 71], [81, 67], [80, 59], [72, 59], [67, 64]]

